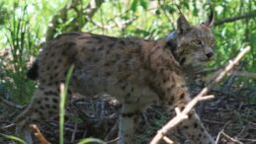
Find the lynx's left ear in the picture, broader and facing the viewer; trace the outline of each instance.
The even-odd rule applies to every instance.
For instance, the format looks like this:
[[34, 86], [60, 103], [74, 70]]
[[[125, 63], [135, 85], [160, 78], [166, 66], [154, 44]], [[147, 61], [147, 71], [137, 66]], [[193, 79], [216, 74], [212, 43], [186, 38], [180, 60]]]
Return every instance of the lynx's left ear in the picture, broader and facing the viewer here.
[[183, 16], [183, 14], [180, 15], [180, 17], [177, 21], [177, 28], [178, 28], [179, 34], [181, 34], [181, 35], [186, 34], [190, 30], [190, 24], [186, 20], [186, 18]]

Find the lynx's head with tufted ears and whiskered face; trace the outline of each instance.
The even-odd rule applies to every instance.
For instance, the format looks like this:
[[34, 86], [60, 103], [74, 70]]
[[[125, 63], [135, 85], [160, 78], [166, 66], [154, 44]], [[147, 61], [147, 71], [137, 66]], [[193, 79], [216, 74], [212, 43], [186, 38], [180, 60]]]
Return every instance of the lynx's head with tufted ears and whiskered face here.
[[213, 58], [214, 37], [213, 10], [207, 21], [198, 26], [190, 26], [181, 14], [177, 21], [177, 30], [166, 36], [168, 47], [184, 68], [198, 68]]

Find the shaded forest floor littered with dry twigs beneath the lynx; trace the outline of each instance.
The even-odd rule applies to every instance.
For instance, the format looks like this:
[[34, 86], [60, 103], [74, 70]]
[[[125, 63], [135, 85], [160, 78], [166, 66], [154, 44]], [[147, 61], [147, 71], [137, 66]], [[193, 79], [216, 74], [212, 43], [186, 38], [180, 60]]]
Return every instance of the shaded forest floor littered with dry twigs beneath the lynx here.
[[[255, 144], [256, 104], [248, 102], [256, 96], [256, 88], [237, 86], [235, 80], [235, 77], [229, 76], [221, 86], [215, 87], [211, 92], [214, 99], [200, 103], [197, 112], [213, 137], [218, 137], [218, 144]], [[191, 89], [196, 95], [202, 86], [194, 85]], [[8, 104], [7, 101], [3, 103], [3, 101], [0, 103], [0, 133], [14, 135], [13, 120], [24, 107]], [[65, 116], [65, 144], [77, 143], [85, 137], [96, 137], [105, 141], [114, 140], [113, 143], [115, 143], [120, 108], [120, 104], [110, 96], [93, 98], [74, 96]], [[164, 107], [153, 105], [144, 110], [140, 116], [134, 143], [148, 143], [157, 129], [163, 126], [170, 117]], [[48, 141], [52, 144], [58, 143], [57, 118], [42, 123], [40, 128]], [[177, 133], [170, 132], [171, 137], [174, 135]], [[177, 137], [181, 143], [189, 143], [180, 130], [178, 130]], [[12, 143], [0, 137], [0, 144]]]

